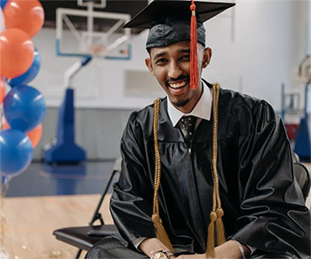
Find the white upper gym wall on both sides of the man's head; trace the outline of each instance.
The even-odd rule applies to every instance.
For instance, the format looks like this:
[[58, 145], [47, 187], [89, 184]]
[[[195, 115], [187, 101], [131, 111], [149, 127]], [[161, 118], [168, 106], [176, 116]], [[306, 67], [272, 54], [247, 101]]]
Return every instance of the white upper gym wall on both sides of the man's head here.
[[[237, 0], [227, 11], [205, 24], [207, 45], [213, 56], [203, 77], [223, 88], [242, 90], [265, 98], [277, 110], [281, 83], [294, 83], [293, 74], [305, 53], [306, 3], [289, 0]], [[307, 5], [308, 6], [308, 5]], [[152, 97], [125, 95], [125, 71], [145, 70], [147, 32], [132, 39], [132, 60], [92, 60], [74, 80], [76, 105], [81, 107], [140, 108]], [[234, 37], [234, 40], [232, 39]], [[63, 94], [63, 75], [77, 58], [56, 57], [54, 31], [42, 29], [34, 38], [42, 56], [42, 68], [31, 83], [42, 90], [48, 106], [58, 106]], [[154, 80], [154, 79], [152, 79]], [[143, 85], [148, 82], [141, 82]], [[160, 87], [159, 87], [160, 89]], [[162, 91], [159, 91], [162, 94]]]

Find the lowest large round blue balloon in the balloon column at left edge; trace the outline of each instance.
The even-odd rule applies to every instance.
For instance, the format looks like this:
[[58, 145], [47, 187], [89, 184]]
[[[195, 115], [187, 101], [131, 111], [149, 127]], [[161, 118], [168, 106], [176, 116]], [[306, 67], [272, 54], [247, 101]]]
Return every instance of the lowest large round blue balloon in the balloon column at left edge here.
[[20, 130], [0, 131], [0, 175], [12, 176], [27, 169], [33, 148], [27, 135]]

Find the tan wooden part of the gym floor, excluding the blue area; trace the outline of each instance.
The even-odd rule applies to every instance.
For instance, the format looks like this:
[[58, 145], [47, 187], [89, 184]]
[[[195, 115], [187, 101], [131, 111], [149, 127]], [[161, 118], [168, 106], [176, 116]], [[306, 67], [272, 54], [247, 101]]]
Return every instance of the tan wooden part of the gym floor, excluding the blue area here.
[[[111, 224], [108, 199], [104, 200], [101, 213], [105, 223]], [[98, 200], [100, 195], [4, 198], [1, 213], [6, 224], [1, 247], [13, 259], [74, 258], [77, 249], [55, 239], [52, 232], [87, 225]], [[0, 258], [3, 259], [1, 248]]]

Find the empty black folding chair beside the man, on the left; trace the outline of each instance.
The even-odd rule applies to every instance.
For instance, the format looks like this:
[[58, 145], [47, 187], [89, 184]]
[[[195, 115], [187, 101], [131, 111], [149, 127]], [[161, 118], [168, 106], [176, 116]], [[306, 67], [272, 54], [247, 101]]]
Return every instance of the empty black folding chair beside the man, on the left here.
[[[56, 237], [56, 239], [79, 248], [76, 254], [76, 258], [79, 258], [82, 250], [89, 251], [95, 243], [100, 241], [100, 239], [117, 232], [116, 226], [114, 224], [104, 223], [104, 220], [102, 219], [99, 211], [102, 201], [104, 200], [110, 185], [113, 183], [113, 179], [117, 173], [120, 173], [120, 171], [121, 159], [117, 159], [111, 171], [111, 175], [105, 190], [101, 194], [100, 201], [88, 226], [62, 228], [53, 232], [53, 235]], [[100, 224], [94, 225], [96, 221], [100, 221]]]

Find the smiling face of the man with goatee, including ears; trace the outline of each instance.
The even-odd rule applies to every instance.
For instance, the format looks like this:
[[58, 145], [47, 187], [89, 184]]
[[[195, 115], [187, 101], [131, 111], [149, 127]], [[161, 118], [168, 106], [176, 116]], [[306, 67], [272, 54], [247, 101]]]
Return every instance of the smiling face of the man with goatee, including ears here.
[[[198, 71], [207, 67], [211, 59], [211, 49], [203, 49], [198, 44]], [[152, 48], [146, 65], [160, 83], [163, 90], [181, 112], [189, 113], [202, 93], [202, 83], [198, 81], [195, 90], [190, 89], [190, 43], [179, 42], [167, 47]]]

